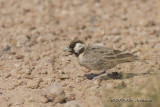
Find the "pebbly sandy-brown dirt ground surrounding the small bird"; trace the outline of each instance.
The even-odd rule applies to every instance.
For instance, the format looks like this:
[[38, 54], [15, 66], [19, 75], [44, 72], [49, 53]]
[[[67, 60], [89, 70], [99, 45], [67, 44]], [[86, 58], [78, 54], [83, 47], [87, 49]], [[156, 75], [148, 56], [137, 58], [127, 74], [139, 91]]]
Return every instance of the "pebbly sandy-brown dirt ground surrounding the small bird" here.
[[[0, 0], [0, 107], [158, 107], [158, 9], [157, 0]], [[141, 61], [93, 80], [102, 71], [64, 51], [75, 38]]]

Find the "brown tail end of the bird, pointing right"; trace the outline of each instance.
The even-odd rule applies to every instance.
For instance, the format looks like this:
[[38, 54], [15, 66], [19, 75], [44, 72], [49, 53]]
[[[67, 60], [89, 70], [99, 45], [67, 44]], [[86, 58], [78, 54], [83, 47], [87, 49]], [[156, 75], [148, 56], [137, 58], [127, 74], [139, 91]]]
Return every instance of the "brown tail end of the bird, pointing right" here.
[[139, 60], [137, 56], [131, 53], [121, 53], [116, 55], [116, 58], [119, 63], [133, 62], [133, 61]]

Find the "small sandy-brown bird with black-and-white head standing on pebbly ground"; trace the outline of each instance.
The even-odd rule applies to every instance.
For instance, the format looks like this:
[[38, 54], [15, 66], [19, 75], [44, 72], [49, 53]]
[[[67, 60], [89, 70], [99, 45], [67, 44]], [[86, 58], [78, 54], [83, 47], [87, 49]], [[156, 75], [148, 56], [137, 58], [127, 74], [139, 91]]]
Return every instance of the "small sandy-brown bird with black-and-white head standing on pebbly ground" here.
[[131, 53], [109, 49], [105, 46], [86, 46], [81, 40], [74, 40], [66, 48], [68, 52], [75, 54], [81, 66], [90, 70], [103, 70], [104, 74], [97, 76], [100, 78], [108, 74], [108, 69], [125, 62], [133, 62], [137, 59]]

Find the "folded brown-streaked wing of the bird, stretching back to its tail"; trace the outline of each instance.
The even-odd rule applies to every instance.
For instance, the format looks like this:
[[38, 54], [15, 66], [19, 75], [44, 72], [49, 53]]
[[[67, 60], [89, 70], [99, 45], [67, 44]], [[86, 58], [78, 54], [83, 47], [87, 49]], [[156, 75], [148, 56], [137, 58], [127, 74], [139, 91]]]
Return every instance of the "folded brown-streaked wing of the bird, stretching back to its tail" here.
[[125, 53], [119, 50], [109, 49], [104, 46], [89, 46], [86, 48], [84, 56], [89, 59], [110, 62], [110, 61], [133, 61], [135, 56], [131, 53]]

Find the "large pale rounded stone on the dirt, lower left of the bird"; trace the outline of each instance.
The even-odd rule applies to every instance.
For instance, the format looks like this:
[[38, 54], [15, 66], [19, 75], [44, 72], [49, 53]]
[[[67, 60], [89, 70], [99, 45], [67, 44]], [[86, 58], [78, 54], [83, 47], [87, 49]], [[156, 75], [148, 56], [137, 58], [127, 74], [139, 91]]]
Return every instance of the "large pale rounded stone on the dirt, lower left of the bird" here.
[[52, 83], [46, 88], [46, 94], [47, 98], [54, 103], [62, 103], [65, 99], [65, 92], [57, 82]]

